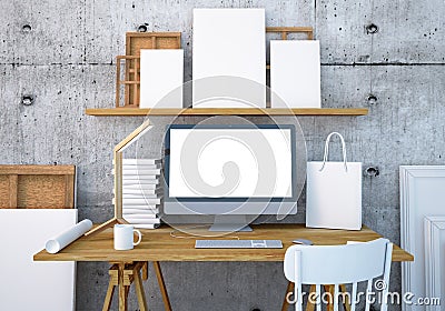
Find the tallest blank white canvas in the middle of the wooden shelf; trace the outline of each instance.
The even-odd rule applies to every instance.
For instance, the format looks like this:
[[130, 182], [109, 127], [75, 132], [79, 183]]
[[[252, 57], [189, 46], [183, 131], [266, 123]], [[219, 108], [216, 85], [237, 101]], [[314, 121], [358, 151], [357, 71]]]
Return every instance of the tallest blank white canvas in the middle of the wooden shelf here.
[[[194, 107], [266, 107], [265, 27], [264, 9], [194, 10]], [[238, 79], [216, 81], [210, 87], [196, 81], [220, 76]], [[206, 100], [209, 98], [236, 100]]]

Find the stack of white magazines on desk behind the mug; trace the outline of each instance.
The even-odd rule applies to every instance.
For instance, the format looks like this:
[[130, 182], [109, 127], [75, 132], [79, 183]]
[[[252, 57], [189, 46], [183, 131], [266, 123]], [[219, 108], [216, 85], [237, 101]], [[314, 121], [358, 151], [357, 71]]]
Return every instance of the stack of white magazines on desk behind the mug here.
[[122, 214], [139, 229], [159, 227], [162, 202], [160, 159], [123, 159]]

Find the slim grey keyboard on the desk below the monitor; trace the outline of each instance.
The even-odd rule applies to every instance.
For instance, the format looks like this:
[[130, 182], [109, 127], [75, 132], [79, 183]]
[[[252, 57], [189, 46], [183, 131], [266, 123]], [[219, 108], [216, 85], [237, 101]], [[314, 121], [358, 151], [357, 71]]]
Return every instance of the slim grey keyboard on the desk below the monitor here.
[[283, 249], [280, 240], [196, 240], [195, 249]]

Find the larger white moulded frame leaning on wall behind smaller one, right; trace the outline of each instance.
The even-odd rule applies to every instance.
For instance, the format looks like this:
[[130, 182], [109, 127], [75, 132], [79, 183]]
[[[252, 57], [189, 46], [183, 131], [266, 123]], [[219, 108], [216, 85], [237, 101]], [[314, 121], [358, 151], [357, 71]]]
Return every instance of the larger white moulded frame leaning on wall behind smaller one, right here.
[[[400, 247], [416, 259], [402, 263], [402, 291], [426, 297], [424, 217], [445, 214], [445, 165], [402, 165], [399, 175]], [[406, 303], [402, 309], [425, 310]]]

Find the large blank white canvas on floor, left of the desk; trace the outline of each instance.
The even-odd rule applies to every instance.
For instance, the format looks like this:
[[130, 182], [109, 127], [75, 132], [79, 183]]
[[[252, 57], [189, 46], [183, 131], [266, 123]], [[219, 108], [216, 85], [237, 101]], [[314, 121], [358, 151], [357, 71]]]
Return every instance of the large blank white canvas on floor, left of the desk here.
[[77, 222], [77, 209], [0, 209], [0, 310], [75, 310], [75, 262], [34, 262], [48, 239]]

